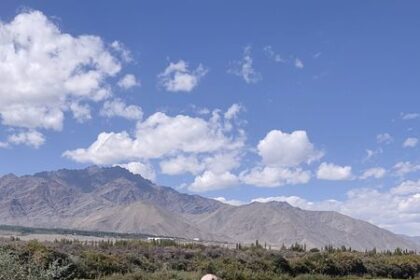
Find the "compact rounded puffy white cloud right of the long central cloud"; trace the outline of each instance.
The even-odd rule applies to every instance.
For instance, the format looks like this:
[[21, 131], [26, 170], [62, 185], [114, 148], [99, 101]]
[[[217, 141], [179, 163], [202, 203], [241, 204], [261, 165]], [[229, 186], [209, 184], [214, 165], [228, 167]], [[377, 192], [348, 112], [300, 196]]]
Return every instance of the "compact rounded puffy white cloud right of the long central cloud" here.
[[291, 167], [319, 160], [323, 152], [309, 141], [306, 131], [270, 131], [258, 143], [258, 153], [267, 166]]

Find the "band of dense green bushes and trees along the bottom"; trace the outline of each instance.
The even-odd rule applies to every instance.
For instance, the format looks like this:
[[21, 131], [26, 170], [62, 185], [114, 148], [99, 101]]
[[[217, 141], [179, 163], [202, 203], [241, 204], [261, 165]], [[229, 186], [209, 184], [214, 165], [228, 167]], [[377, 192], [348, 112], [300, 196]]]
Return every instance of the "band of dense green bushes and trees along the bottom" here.
[[214, 273], [224, 280], [415, 278], [420, 255], [415, 252], [322, 250], [297, 244], [271, 250], [256, 243], [235, 249], [171, 240], [41, 243], [3, 240], [0, 280], [55, 279], [200, 279]]

